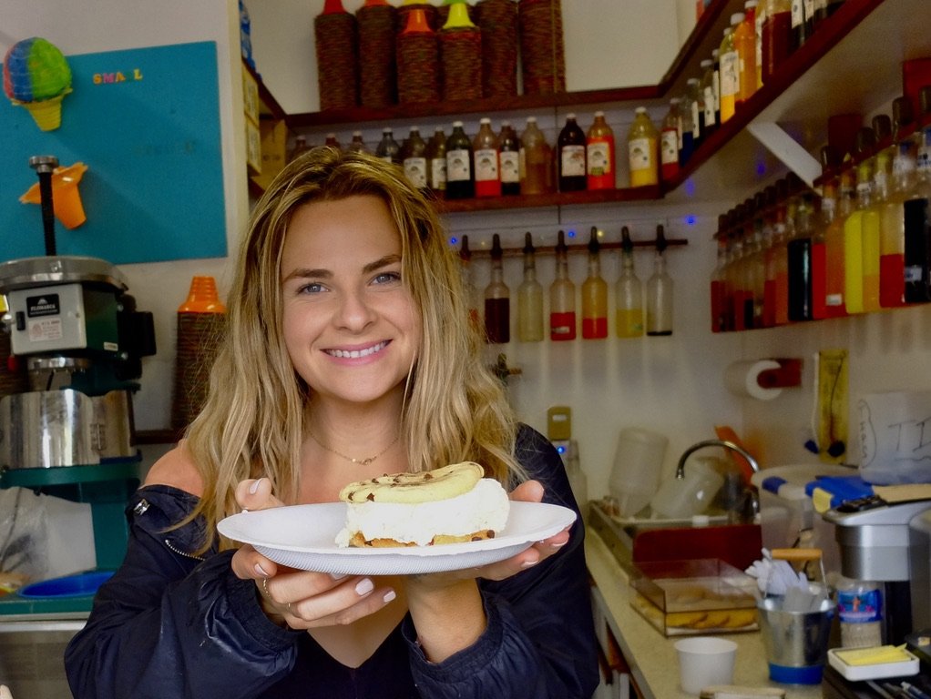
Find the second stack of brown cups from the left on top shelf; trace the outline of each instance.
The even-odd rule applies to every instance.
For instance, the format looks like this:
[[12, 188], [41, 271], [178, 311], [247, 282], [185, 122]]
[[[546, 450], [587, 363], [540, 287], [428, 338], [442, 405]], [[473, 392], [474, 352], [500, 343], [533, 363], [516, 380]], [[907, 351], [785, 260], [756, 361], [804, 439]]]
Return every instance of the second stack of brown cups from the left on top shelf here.
[[395, 103], [395, 20], [390, 5], [359, 7], [358, 82], [363, 107], [385, 107]]

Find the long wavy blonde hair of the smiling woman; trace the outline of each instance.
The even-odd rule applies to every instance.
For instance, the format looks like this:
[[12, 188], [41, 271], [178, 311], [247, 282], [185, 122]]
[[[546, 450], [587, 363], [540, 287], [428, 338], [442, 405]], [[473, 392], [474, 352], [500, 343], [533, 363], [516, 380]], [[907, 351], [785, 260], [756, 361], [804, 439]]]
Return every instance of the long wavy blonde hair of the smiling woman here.
[[212, 544], [217, 522], [238, 512], [239, 481], [268, 477], [278, 499], [297, 501], [312, 389], [294, 371], [283, 340], [281, 251], [298, 208], [357, 195], [377, 196], [390, 211], [401, 236], [401, 278], [423, 328], [400, 415], [410, 470], [472, 460], [506, 486], [526, 477], [514, 458], [515, 416], [503, 386], [482, 364], [461, 268], [434, 208], [397, 166], [315, 148], [277, 175], [252, 212], [209, 396], [187, 430], [187, 449], [204, 489], [184, 521], [206, 519], [201, 552]]

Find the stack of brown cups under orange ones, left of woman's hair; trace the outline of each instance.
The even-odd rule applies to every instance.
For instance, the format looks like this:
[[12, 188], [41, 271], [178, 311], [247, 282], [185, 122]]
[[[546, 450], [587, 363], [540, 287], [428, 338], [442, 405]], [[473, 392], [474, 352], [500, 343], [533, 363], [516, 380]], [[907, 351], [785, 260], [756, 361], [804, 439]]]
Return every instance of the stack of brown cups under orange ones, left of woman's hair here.
[[179, 313], [171, 427], [182, 430], [204, 406], [210, 369], [226, 328], [222, 313]]

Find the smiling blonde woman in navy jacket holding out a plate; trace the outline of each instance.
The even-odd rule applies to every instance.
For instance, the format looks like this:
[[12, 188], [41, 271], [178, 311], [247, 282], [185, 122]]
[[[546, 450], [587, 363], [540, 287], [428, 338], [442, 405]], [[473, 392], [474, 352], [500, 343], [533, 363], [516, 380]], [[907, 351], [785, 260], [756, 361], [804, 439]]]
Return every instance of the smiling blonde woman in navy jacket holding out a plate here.
[[216, 533], [243, 508], [483, 464], [575, 507], [560, 457], [482, 366], [458, 262], [398, 168], [315, 149], [257, 204], [209, 399], [128, 507], [126, 559], [65, 662], [74, 696], [587, 697], [581, 519], [480, 569], [296, 571]]

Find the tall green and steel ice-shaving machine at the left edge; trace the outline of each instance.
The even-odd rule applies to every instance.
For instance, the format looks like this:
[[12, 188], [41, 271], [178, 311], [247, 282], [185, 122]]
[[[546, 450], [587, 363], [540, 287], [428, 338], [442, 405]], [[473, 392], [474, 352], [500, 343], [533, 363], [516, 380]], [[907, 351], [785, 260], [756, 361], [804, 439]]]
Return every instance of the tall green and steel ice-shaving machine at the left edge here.
[[87, 618], [96, 589], [88, 581], [115, 570], [126, 553], [124, 509], [142, 470], [132, 394], [142, 357], [155, 354], [155, 331], [113, 264], [57, 254], [49, 181], [57, 161], [30, 164], [47, 254], [0, 263], [0, 332], [28, 372], [28, 390], [0, 397], [0, 489], [89, 504], [96, 556], [96, 569], [67, 585], [33, 581], [39, 585], [0, 595], [0, 684], [43, 699], [67, 692], [61, 651]]

